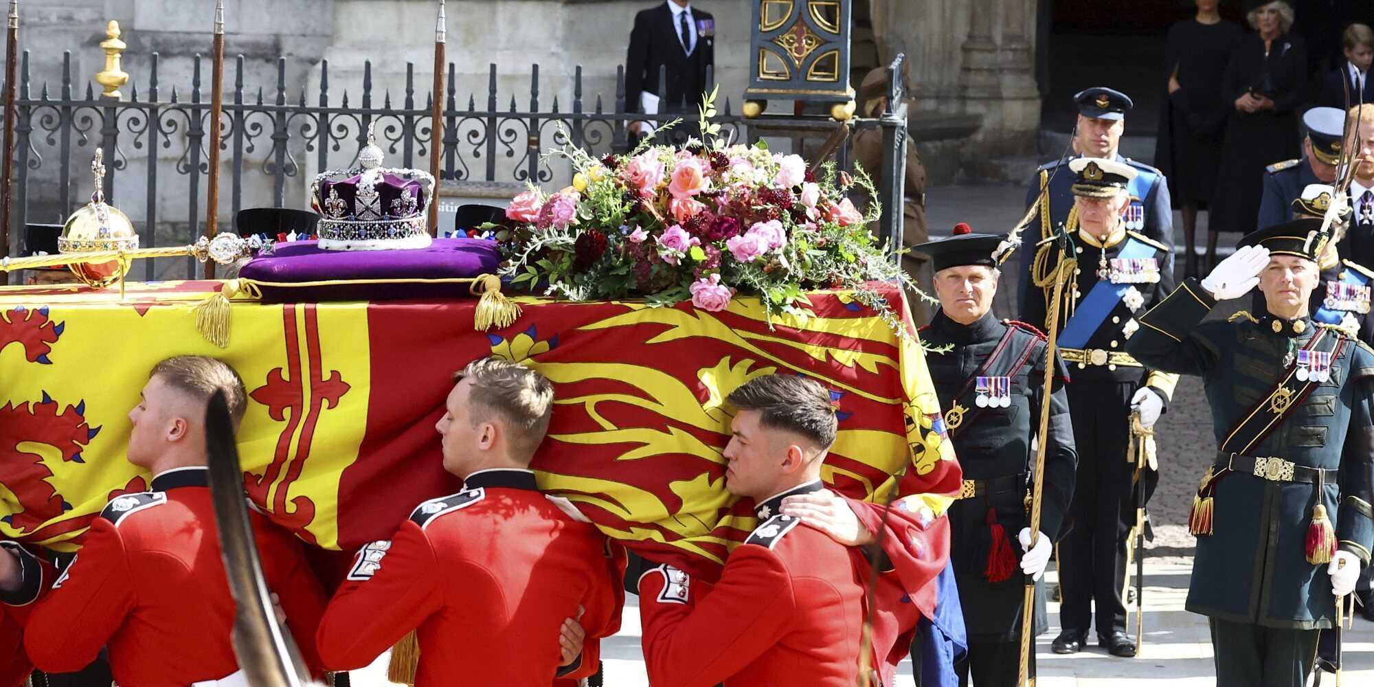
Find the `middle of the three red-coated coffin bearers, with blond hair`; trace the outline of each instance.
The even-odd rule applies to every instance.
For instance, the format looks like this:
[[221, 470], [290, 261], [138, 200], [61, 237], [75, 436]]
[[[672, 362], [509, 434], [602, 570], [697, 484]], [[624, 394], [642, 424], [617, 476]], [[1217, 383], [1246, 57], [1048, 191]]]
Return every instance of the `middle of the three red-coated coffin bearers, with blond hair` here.
[[[320, 621], [320, 658], [331, 669], [364, 668], [414, 629], [415, 687], [459, 684], [481, 666], [526, 687], [588, 677], [598, 640], [620, 629], [625, 555], [534, 484], [529, 463], [548, 431], [554, 386], [492, 357], [453, 382], [437, 429], [444, 469], [463, 491], [419, 504], [393, 539], [357, 552]], [[584, 650], [565, 657], [561, 636], [578, 606]]]

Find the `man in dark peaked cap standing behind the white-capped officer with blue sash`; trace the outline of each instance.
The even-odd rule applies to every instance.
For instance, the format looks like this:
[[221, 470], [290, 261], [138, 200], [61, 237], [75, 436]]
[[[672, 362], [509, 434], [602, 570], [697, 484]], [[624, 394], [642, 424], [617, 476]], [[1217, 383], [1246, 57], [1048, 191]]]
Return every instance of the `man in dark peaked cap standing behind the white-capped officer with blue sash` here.
[[[1073, 96], [1079, 107], [1079, 120], [1073, 129], [1073, 154], [1046, 162], [1036, 169], [1036, 176], [1026, 191], [1026, 207], [1035, 207], [1036, 214], [1022, 239], [1036, 243], [1050, 238], [1059, 227], [1069, 234], [1079, 229], [1079, 214], [1074, 212], [1074, 174], [1069, 162], [1077, 158], [1110, 159], [1129, 165], [1135, 176], [1127, 184], [1125, 228], [1147, 239], [1173, 245], [1173, 209], [1169, 201], [1169, 184], [1164, 174], [1143, 162], [1136, 162], [1118, 153], [1121, 133], [1125, 131], [1125, 113], [1132, 102], [1125, 93], [1110, 88], [1088, 88]], [[1047, 191], [1044, 191], [1048, 188]], [[1041, 192], [1044, 191], [1044, 192]], [[1033, 250], [1021, 254], [1020, 273], [1030, 271]], [[1191, 253], [1190, 253], [1191, 254]], [[1173, 256], [1168, 256], [1169, 268]], [[1017, 284], [1017, 301], [1025, 298], [1028, 280]]]

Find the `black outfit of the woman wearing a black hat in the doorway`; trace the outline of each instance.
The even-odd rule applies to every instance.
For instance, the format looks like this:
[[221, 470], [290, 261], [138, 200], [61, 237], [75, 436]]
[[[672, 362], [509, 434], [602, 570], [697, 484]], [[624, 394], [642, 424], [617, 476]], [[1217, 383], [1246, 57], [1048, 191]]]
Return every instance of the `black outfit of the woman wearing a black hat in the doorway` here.
[[[1242, 113], [1235, 99], [1246, 91], [1267, 95], [1274, 109]], [[1298, 157], [1294, 111], [1307, 96], [1307, 49], [1303, 38], [1285, 33], [1274, 38], [1268, 55], [1264, 40], [1248, 33], [1235, 41], [1221, 78], [1221, 98], [1231, 114], [1221, 142], [1221, 166], [1212, 194], [1210, 231], [1254, 231], [1264, 191], [1264, 168]]]

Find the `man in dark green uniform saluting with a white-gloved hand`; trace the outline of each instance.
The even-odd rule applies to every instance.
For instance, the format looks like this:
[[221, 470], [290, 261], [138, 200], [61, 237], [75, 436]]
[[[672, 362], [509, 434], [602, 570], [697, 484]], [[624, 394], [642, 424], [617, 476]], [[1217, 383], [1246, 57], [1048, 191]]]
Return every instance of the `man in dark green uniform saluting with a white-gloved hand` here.
[[[1128, 349], [1202, 376], [1216, 459], [1189, 518], [1187, 609], [1208, 616], [1217, 684], [1304, 686], [1319, 631], [1374, 547], [1374, 350], [1308, 312], [1329, 236], [1315, 218], [1259, 229], [1147, 312]], [[1254, 286], [1265, 309], [1202, 319]]]

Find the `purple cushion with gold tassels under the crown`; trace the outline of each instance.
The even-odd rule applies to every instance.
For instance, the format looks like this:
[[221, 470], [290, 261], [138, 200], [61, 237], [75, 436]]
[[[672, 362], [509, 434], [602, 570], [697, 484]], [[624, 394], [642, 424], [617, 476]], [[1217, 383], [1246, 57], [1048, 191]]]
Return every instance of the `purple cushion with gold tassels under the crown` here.
[[261, 286], [264, 302], [397, 301], [407, 298], [470, 297], [467, 283], [372, 284], [360, 279], [456, 279], [495, 275], [500, 258], [496, 242], [434, 239], [418, 250], [323, 250], [313, 240], [278, 243], [268, 256], [239, 269], [258, 282], [334, 282], [326, 286]]

